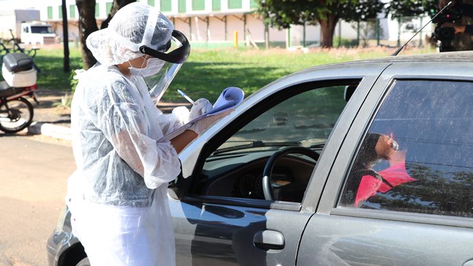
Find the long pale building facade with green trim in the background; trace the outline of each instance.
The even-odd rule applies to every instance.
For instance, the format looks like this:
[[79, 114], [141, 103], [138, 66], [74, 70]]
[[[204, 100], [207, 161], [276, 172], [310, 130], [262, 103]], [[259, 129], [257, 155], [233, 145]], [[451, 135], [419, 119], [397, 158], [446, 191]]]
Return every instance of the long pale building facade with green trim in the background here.
[[[14, 0], [12, 0], [14, 1]], [[171, 21], [175, 28], [183, 32], [193, 47], [225, 47], [238, 45], [280, 47], [317, 46], [321, 39], [319, 25], [292, 25], [290, 29], [265, 27], [263, 18], [256, 13], [258, 0], [138, 0], [153, 6]], [[62, 38], [61, 0], [29, 1], [29, 7], [40, 10], [42, 21], [47, 21]], [[96, 0], [95, 17], [97, 24], [106, 19], [112, 8], [112, 0]], [[75, 0], [66, 1], [69, 21], [69, 40], [77, 42], [79, 38], [78, 11]], [[422, 21], [422, 19], [421, 19]], [[411, 25], [420, 25], [419, 19]], [[403, 40], [411, 32], [404, 30], [405, 23], [386, 19], [379, 14], [376, 23], [347, 23], [340, 21], [335, 30], [335, 42], [342, 38], [360, 40], [360, 38], [378, 38], [379, 40]], [[366, 28], [363, 28], [366, 25]], [[369, 26], [371, 25], [371, 26]], [[367, 29], [367, 27], [371, 27]], [[416, 26], [417, 27], [417, 26]], [[419, 27], [420, 28], [420, 27]], [[430, 28], [427, 27], [427, 31]], [[422, 40], [422, 36], [420, 37]]]

